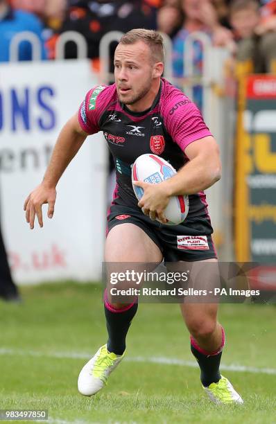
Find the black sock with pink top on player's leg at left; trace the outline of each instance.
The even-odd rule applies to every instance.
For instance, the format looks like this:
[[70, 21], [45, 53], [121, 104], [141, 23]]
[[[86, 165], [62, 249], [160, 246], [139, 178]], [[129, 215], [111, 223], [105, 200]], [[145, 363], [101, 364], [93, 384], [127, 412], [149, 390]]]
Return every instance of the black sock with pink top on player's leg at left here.
[[132, 318], [135, 316], [138, 303], [132, 303], [130, 308], [112, 312], [105, 304], [106, 328], [108, 332], [107, 351], [123, 355], [126, 350], [126, 335]]

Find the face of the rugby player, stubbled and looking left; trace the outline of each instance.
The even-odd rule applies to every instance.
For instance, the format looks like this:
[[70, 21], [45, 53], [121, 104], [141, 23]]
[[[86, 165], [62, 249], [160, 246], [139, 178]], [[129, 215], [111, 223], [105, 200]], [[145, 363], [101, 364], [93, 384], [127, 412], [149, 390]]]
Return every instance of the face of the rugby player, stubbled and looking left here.
[[153, 62], [144, 42], [119, 44], [114, 54], [114, 76], [121, 103], [134, 105], [150, 90]]

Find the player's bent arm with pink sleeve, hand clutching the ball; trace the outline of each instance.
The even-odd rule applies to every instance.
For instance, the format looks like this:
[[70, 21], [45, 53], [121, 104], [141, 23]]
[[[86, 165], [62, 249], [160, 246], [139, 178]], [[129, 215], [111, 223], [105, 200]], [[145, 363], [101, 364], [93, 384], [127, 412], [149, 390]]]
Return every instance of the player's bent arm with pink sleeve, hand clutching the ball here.
[[196, 105], [172, 89], [162, 106], [164, 125], [189, 161], [171, 179], [159, 184], [136, 182], [144, 189], [138, 203], [145, 215], [166, 222], [164, 209], [173, 195], [190, 195], [212, 186], [221, 177], [218, 145]]

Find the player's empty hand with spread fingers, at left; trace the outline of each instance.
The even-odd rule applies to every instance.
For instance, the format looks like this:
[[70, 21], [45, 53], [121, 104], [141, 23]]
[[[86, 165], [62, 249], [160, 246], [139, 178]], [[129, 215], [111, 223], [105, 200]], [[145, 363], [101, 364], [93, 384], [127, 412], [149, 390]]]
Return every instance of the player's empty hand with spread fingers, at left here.
[[35, 224], [35, 215], [40, 227], [43, 227], [42, 204], [48, 203], [48, 218], [53, 218], [55, 208], [55, 188], [49, 188], [43, 182], [28, 195], [24, 202], [24, 211], [26, 211], [26, 221], [30, 224], [30, 229], [33, 229]]

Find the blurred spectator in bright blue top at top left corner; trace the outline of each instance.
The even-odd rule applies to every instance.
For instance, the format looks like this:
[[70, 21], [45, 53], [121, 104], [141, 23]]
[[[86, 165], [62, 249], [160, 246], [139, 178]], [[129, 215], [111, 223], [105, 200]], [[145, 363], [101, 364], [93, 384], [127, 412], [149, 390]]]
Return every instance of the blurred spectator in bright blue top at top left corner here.
[[[42, 59], [46, 59], [44, 40], [42, 39], [42, 24], [35, 15], [14, 10], [8, 0], [0, 0], [0, 62], [10, 60], [10, 42], [12, 37], [21, 31], [31, 31], [40, 39]], [[32, 48], [29, 42], [21, 42], [19, 45], [19, 60], [31, 60]]]

